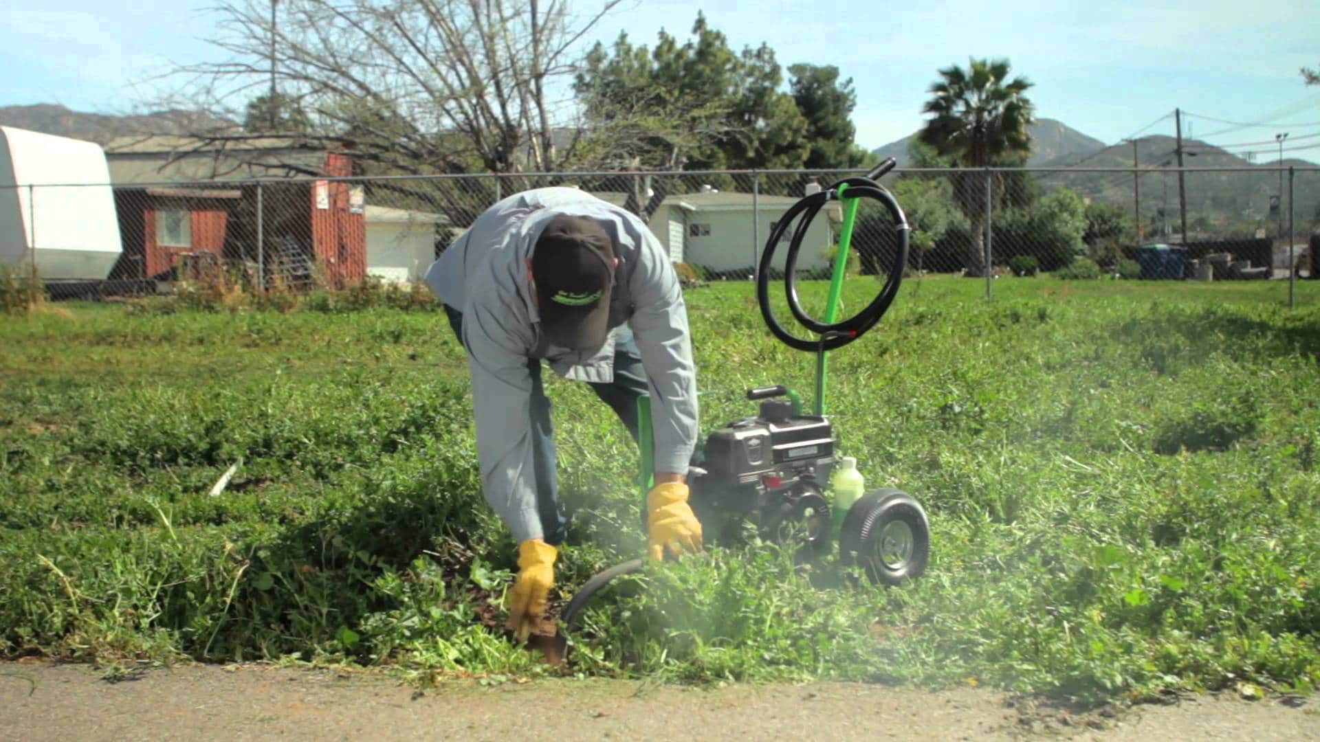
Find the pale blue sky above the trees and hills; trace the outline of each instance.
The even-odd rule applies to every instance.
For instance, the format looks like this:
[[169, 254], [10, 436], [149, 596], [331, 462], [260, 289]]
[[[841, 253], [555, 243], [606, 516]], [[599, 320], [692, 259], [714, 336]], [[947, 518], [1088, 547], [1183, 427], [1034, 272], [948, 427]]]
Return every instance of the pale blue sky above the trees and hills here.
[[[598, 7], [572, 0], [581, 11]], [[152, 98], [152, 78], [176, 63], [219, 61], [205, 42], [209, 0], [46, 0], [41, 9], [0, 9], [0, 104], [62, 103], [125, 112]], [[915, 131], [936, 70], [969, 55], [1007, 57], [1035, 83], [1038, 116], [1063, 120], [1106, 143], [1173, 133], [1175, 107], [1199, 139], [1238, 145], [1288, 131], [1300, 148], [1320, 135], [1320, 86], [1298, 69], [1320, 66], [1320, 3], [1313, 0], [1067, 1], [928, 0], [783, 3], [706, 0], [710, 25], [735, 49], [767, 42], [784, 67], [836, 65], [858, 95], [857, 140], [875, 148]], [[685, 40], [696, 4], [624, 0], [593, 38], [627, 29], [652, 46], [664, 28]], [[1245, 8], [1250, 7], [1247, 11]], [[1216, 121], [1263, 123], [1234, 127]], [[1184, 129], [1184, 135], [1188, 131]], [[1226, 131], [1225, 131], [1226, 129]], [[1221, 133], [1216, 133], [1221, 132]], [[1213, 135], [1213, 136], [1206, 136]], [[1315, 149], [1294, 156], [1320, 158]], [[1272, 145], [1234, 149], [1272, 151]], [[1262, 156], [1263, 157], [1263, 156]], [[1258, 161], [1262, 158], [1258, 157]]]

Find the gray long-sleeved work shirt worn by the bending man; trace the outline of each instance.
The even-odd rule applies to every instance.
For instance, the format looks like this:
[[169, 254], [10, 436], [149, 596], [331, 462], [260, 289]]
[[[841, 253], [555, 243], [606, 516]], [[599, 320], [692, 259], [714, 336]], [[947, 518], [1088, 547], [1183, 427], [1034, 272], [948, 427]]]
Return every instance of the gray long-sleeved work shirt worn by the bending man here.
[[627, 322], [642, 353], [656, 471], [685, 473], [697, 441], [686, 308], [673, 265], [651, 230], [634, 214], [570, 187], [529, 190], [491, 206], [430, 265], [426, 284], [463, 313], [486, 500], [520, 543], [544, 536], [532, 477], [527, 359], [544, 358], [566, 379], [614, 379], [616, 331], [595, 353], [550, 346], [540, 333], [527, 259], [541, 230], [560, 214], [593, 217], [615, 240], [619, 267], [610, 327]]

